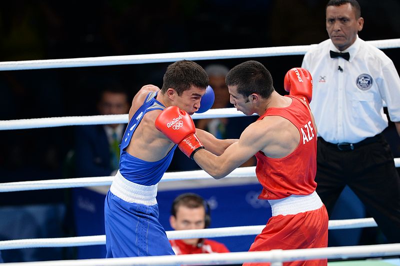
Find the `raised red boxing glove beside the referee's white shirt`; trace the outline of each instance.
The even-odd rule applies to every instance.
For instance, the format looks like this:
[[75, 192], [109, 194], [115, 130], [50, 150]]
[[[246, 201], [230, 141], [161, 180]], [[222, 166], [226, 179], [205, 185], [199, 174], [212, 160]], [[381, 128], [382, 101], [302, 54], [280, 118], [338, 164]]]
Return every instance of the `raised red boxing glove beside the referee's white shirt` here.
[[312, 78], [304, 68], [292, 68], [284, 76], [283, 88], [291, 96], [296, 96], [307, 104], [312, 98]]

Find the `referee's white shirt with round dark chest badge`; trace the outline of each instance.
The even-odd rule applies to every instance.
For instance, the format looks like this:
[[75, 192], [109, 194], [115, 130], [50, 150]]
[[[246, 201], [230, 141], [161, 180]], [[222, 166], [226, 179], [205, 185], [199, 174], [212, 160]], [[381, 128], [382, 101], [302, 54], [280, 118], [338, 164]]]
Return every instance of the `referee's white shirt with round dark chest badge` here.
[[302, 68], [312, 76], [310, 103], [318, 136], [331, 143], [356, 143], [387, 127], [382, 100], [390, 120], [400, 121], [400, 78], [393, 62], [379, 49], [357, 37], [342, 52], [350, 59], [330, 58], [339, 52], [323, 41], [304, 56]]

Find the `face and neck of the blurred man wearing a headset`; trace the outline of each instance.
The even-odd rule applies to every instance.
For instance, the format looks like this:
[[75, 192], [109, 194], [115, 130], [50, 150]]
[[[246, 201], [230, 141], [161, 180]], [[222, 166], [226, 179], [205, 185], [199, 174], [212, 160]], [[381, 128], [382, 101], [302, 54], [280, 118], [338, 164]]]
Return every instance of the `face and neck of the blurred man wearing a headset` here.
[[[188, 208], [181, 205], [176, 210], [176, 216], [171, 215], [169, 217], [169, 223], [175, 230], [204, 229], [205, 209], [202, 206], [198, 208]], [[196, 245], [198, 243], [198, 238], [182, 240], [190, 245]]]

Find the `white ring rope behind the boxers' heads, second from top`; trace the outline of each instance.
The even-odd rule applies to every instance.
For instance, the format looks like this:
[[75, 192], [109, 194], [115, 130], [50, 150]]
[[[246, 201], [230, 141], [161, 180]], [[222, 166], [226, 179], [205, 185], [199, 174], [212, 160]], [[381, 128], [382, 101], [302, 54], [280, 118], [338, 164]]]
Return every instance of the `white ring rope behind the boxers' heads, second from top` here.
[[[240, 117], [245, 116], [236, 108], [209, 109], [202, 114], [193, 114], [192, 119]], [[67, 116], [46, 117], [17, 120], [1, 120], [0, 130], [29, 129], [43, 127], [82, 126], [82, 125], [104, 125], [104, 124], [126, 124], [128, 115], [93, 115], [93, 116]]]

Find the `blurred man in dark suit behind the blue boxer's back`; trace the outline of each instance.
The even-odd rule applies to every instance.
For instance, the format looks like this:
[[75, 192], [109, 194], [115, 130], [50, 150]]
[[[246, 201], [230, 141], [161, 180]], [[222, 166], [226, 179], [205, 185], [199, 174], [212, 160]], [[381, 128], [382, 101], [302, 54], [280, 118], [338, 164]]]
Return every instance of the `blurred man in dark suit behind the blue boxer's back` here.
[[[110, 85], [105, 88], [97, 101], [100, 115], [120, 115], [129, 111], [127, 93]], [[78, 126], [75, 131], [76, 176], [114, 175], [119, 163], [119, 143], [125, 124]]]

